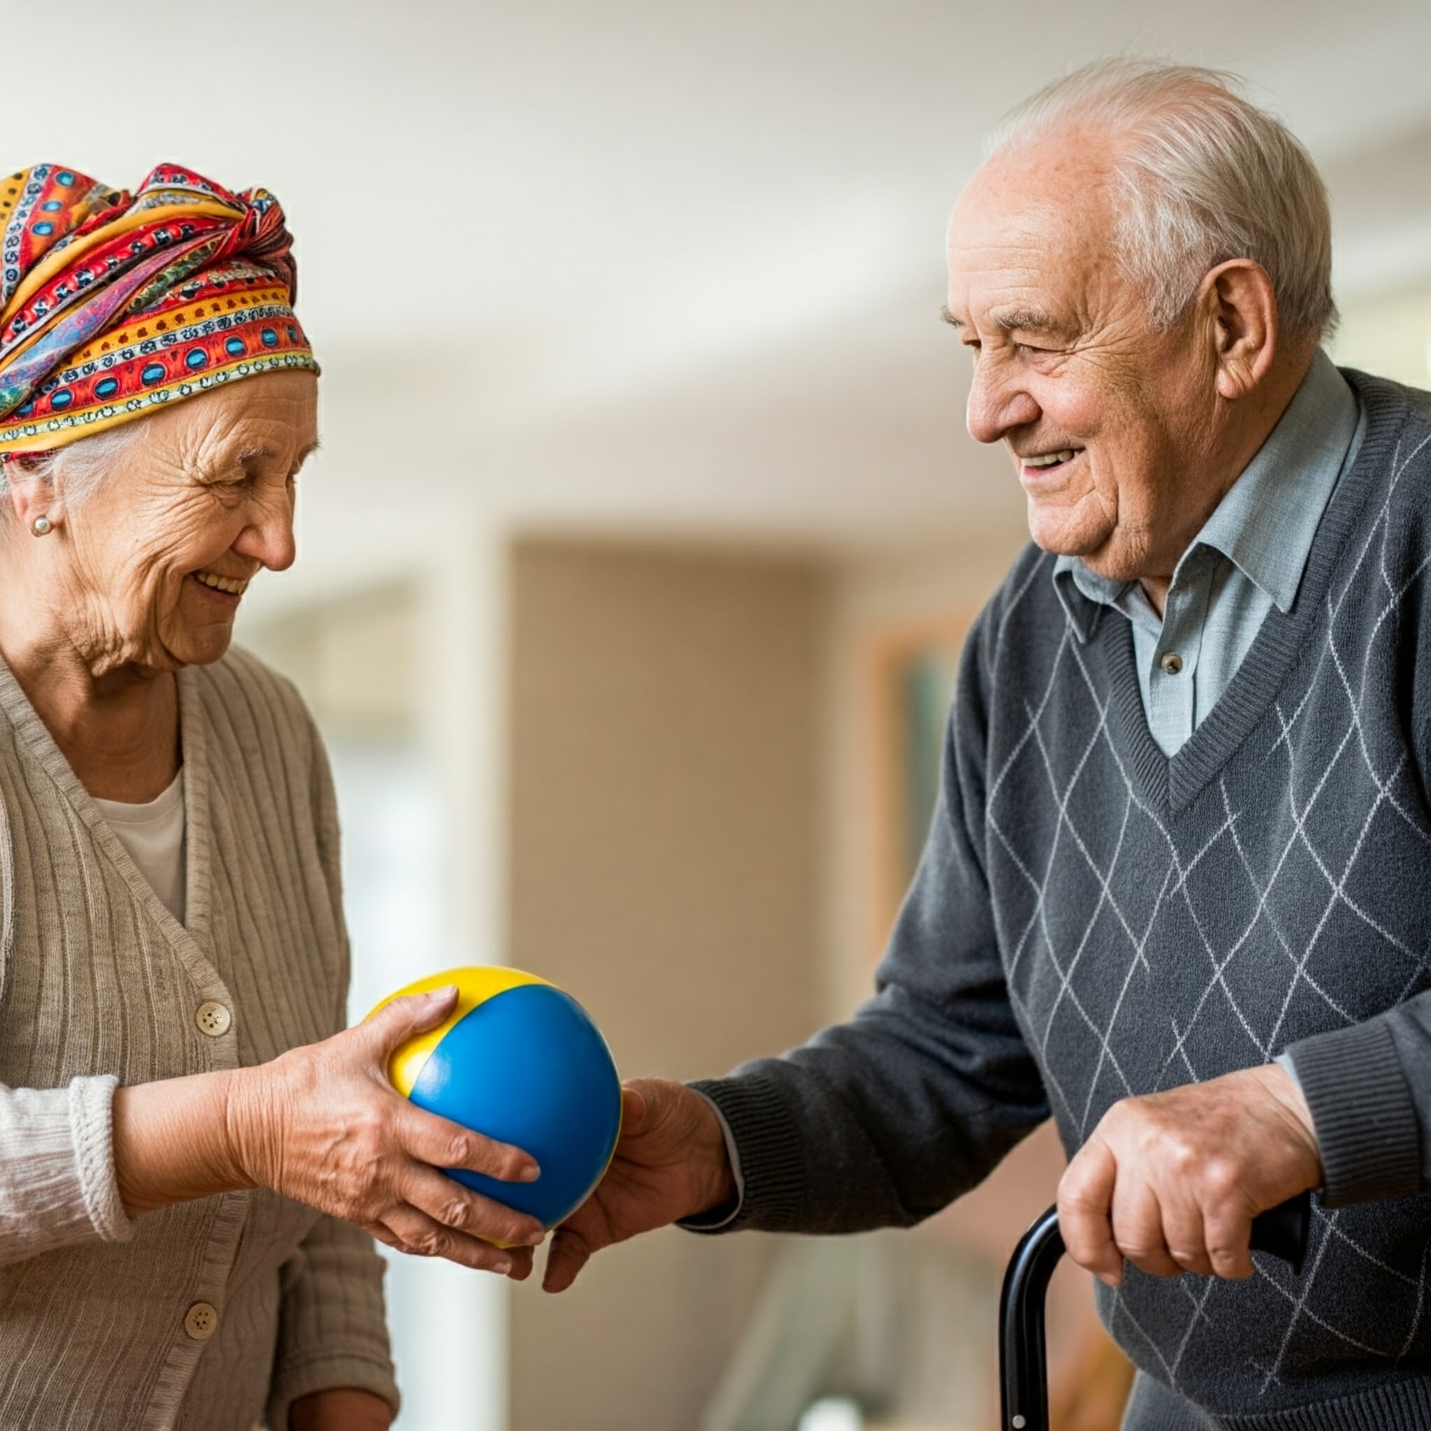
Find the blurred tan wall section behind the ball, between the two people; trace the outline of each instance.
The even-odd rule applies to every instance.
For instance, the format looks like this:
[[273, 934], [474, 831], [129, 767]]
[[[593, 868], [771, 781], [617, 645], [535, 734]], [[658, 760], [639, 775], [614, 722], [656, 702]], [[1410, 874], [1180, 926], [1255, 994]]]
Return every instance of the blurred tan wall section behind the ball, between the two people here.
[[[819, 1019], [826, 584], [797, 560], [527, 542], [512, 562], [511, 960], [622, 1073], [693, 1078]], [[668, 1231], [518, 1288], [511, 1431], [684, 1431], [766, 1238]]]

